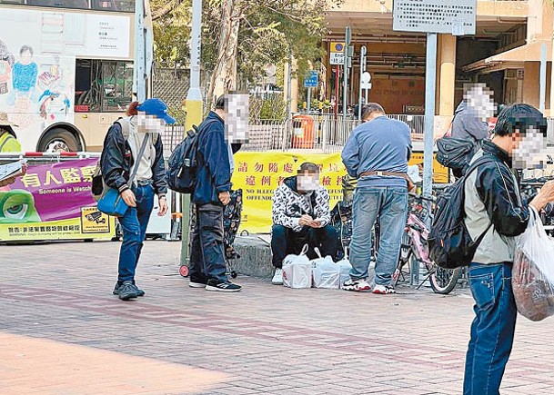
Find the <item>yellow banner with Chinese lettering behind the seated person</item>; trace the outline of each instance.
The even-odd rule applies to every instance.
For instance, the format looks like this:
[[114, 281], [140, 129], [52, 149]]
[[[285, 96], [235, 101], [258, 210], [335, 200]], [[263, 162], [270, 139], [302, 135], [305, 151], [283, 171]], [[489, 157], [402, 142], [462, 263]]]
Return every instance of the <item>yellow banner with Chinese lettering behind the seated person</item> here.
[[[319, 182], [330, 194], [330, 208], [342, 199], [342, 177], [347, 174], [340, 153], [236, 153], [233, 189], [243, 190], [240, 231], [268, 233], [271, 231], [271, 199], [285, 178], [297, 175], [301, 163], [319, 166]], [[409, 164], [423, 163], [422, 153], [413, 153]], [[448, 181], [448, 169], [433, 163], [435, 183]]]

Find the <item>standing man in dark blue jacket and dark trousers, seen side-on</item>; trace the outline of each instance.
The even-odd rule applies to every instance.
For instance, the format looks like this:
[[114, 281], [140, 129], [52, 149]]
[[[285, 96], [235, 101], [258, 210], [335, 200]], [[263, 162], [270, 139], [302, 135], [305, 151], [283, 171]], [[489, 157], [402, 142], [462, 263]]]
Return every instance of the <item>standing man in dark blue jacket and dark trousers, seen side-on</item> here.
[[233, 151], [226, 139], [227, 105], [217, 99], [199, 126], [198, 170], [193, 194], [196, 226], [192, 233], [190, 282], [193, 288], [207, 291], [240, 291], [241, 286], [227, 278], [223, 245], [223, 212], [230, 202]]

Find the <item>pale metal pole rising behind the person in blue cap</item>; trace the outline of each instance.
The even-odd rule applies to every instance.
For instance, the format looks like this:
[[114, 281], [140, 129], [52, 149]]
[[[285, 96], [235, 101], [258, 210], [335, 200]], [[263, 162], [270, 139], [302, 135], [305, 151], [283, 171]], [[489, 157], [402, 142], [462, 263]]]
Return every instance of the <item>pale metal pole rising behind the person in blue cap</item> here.
[[135, 2], [135, 65], [133, 67], [133, 91], [140, 103], [146, 100], [146, 35], [144, 0]]

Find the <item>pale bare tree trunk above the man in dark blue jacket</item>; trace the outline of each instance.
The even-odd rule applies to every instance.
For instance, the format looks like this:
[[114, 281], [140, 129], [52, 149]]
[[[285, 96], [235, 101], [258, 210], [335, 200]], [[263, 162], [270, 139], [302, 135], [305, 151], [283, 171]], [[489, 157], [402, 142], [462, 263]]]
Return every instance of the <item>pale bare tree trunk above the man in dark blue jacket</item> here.
[[217, 62], [210, 80], [206, 102], [213, 105], [217, 97], [237, 89], [238, 29], [240, 0], [224, 0], [221, 35], [217, 45]]

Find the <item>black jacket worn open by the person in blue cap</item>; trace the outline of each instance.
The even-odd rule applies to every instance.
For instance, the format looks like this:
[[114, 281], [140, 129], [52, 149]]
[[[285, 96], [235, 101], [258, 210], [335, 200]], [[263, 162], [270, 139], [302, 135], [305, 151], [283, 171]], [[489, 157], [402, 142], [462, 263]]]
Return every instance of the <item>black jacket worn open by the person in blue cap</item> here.
[[[156, 158], [152, 165], [152, 184], [155, 193], [159, 196], [167, 193], [164, 147], [159, 134], [154, 147], [156, 148]], [[106, 134], [100, 163], [104, 181], [109, 187], [116, 188], [119, 192], [128, 189], [127, 182], [130, 177], [131, 166], [135, 163], [135, 158], [133, 158], [129, 143], [124, 139], [123, 133], [121, 133], [119, 123], [114, 123]]]

